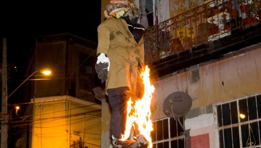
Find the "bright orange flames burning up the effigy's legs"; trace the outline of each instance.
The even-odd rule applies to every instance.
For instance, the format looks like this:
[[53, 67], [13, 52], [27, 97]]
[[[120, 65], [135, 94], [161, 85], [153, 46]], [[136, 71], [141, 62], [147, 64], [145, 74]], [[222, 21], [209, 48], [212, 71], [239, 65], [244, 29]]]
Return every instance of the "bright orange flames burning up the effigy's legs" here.
[[126, 140], [130, 136], [131, 127], [135, 127], [134, 123], [136, 123], [138, 125], [139, 133], [142, 134], [149, 142], [148, 148], [152, 148], [150, 135], [153, 127], [150, 119], [150, 105], [152, 93], [154, 92], [155, 88], [153, 85], [151, 85], [149, 72], [150, 69], [146, 65], [145, 70], [143, 69], [143, 72], [140, 75], [144, 84], [144, 95], [142, 99], [139, 98], [135, 100], [135, 102], [132, 102], [130, 98], [128, 101], [126, 129], [124, 135], [122, 135], [122, 140]]

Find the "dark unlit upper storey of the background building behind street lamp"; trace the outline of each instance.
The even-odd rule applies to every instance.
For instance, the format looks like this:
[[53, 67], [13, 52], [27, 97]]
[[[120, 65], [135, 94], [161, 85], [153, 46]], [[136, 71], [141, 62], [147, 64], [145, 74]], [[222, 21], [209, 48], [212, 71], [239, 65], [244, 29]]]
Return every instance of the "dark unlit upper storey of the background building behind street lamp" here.
[[47, 68], [52, 75], [41, 77], [50, 80], [35, 81], [33, 97], [70, 95], [94, 102], [96, 47], [96, 43], [71, 34], [38, 37], [32, 69]]

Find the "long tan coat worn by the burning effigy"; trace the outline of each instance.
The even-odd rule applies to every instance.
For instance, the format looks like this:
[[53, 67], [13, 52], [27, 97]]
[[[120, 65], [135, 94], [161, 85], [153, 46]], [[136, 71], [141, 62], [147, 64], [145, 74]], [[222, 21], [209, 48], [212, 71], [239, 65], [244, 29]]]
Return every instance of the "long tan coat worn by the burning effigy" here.
[[98, 26], [97, 31], [97, 54], [105, 53], [110, 60], [106, 91], [128, 86], [135, 94], [138, 61], [144, 65], [143, 37], [137, 44], [124, 19], [109, 18]]

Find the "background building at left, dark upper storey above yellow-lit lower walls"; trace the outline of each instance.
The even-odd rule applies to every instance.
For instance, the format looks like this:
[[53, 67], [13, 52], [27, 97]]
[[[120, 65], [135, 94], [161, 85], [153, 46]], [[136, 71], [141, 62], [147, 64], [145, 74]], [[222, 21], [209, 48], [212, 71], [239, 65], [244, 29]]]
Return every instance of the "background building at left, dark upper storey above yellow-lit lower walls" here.
[[[20, 135], [24, 147], [100, 147], [101, 105], [92, 89], [101, 86], [95, 71], [97, 44], [65, 33], [38, 37], [24, 87], [27, 109]], [[39, 73], [48, 69], [51, 74]], [[30, 100], [30, 101], [29, 101]]]

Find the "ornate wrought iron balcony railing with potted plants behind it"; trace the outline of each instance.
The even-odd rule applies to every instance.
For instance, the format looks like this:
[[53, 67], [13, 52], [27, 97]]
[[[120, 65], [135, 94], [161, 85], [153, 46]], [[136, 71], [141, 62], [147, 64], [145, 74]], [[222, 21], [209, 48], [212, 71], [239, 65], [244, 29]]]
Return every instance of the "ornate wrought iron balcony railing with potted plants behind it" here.
[[260, 22], [261, 0], [208, 0], [144, 34], [146, 64]]

